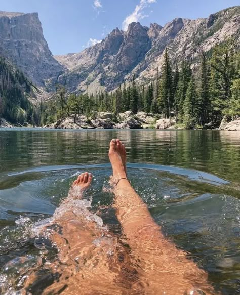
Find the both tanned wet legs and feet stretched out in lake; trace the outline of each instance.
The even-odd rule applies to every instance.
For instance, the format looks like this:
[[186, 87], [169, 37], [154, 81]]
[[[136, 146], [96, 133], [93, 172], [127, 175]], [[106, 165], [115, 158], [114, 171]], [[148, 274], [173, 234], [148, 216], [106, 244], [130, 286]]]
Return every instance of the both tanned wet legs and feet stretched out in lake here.
[[[207, 274], [164, 237], [127, 180], [126, 150], [119, 139], [110, 142], [109, 159], [114, 207], [128, 247], [98, 226], [87, 208], [78, 207], [92, 181], [90, 173], [82, 173], [53, 215], [50, 238], [59, 254], [49, 268], [60, 278], [42, 293], [195, 295], [202, 290], [214, 294]], [[30, 276], [26, 288], [34, 280], [36, 276]]]

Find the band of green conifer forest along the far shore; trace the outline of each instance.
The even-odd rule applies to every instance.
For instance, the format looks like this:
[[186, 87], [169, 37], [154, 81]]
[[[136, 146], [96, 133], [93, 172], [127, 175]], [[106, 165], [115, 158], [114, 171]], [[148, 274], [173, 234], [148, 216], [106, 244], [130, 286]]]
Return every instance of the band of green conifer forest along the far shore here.
[[[210, 121], [218, 124], [223, 116], [240, 116], [240, 53], [232, 48], [229, 42], [216, 46], [208, 56], [203, 53], [200, 66], [194, 70], [185, 60], [173, 68], [166, 49], [162, 70], [148, 85], [142, 85], [133, 76], [127, 85], [124, 83], [116, 91], [101, 91], [95, 95], [67, 94], [64, 87], [59, 86], [47, 103], [32, 108], [20, 96], [17, 115], [11, 115], [12, 104], [6, 111], [6, 103], [2, 114], [12, 122], [20, 119], [22, 122], [21, 110], [24, 109], [27, 121], [44, 125], [70, 115], [76, 117], [79, 113], [88, 116], [92, 110], [114, 114], [131, 110], [161, 114], [165, 118], [175, 116], [176, 122], [186, 128]], [[7, 82], [6, 86], [9, 87]], [[0, 94], [2, 91], [1, 82]], [[5, 101], [6, 97], [5, 94]]]

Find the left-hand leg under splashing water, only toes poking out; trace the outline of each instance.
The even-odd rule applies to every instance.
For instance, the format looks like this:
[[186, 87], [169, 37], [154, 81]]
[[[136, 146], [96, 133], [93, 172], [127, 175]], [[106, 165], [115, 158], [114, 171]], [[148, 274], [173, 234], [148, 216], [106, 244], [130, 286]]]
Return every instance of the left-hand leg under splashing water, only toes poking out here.
[[[58, 255], [46, 265], [56, 279], [49, 286], [41, 286], [43, 295], [141, 294], [128, 249], [102, 226], [101, 218], [91, 213], [82, 200], [82, 192], [91, 181], [90, 173], [78, 176], [68, 197], [56, 209], [52, 224], [45, 228]], [[26, 288], [33, 290], [32, 285], [41, 283], [41, 279], [37, 272], [33, 273]]]

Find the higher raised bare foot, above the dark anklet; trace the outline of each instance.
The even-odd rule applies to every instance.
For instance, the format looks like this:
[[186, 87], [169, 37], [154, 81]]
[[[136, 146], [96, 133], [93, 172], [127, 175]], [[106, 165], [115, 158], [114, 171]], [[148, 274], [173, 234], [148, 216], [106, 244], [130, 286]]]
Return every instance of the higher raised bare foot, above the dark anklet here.
[[112, 139], [108, 153], [113, 177], [116, 179], [126, 178], [126, 150], [119, 139]]

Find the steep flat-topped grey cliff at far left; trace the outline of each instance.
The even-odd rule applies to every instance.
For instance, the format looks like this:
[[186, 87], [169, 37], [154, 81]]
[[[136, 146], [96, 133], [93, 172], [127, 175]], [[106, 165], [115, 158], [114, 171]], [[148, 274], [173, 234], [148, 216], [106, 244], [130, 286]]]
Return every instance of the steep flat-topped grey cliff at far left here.
[[37, 85], [63, 70], [48, 48], [37, 13], [0, 12], [0, 54]]

